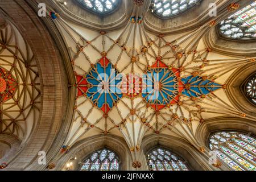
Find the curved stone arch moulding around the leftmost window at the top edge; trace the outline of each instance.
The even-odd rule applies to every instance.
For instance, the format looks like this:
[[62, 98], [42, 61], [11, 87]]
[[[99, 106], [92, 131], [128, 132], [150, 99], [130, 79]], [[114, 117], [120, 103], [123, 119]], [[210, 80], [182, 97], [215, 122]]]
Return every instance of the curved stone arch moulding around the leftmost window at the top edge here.
[[97, 31], [109, 31], [122, 27], [130, 19], [133, 11], [133, 1], [130, 0], [120, 0], [118, 8], [104, 16], [90, 12], [75, 0], [66, 1], [68, 6], [61, 6], [59, 2], [55, 1], [44, 2], [49, 6], [56, 7], [55, 12], [60, 13], [63, 18]]

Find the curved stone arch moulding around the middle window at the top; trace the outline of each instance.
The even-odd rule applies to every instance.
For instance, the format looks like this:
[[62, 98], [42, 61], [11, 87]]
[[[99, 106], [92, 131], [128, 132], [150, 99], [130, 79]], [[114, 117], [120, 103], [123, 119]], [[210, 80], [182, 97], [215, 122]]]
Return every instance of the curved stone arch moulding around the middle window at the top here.
[[[148, 11], [144, 19], [146, 29], [158, 34], [177, 34], [180, 32], [196, 30], [201, 26], [201, 24], [210, 22], [210, 20], [213, 18], [208, 14], [210, 10], [210, 3], [212, 3], [212, 1], [201, 1], [199, 5], [192, 7], [192, 9], [167, 19], [158, 18]], [[229, 3], [232, 3], [232, 1], [217, 1], [217, 12], [224, 10]], [[238, 3], [241, 7], [245, 6], [246, 4], [241, 0], [238, 1]], [[230, 13], [230, 15], [231, 14], [232, 13]], [[226, 14], [226, 17], [228, 16], [229, 14]]]

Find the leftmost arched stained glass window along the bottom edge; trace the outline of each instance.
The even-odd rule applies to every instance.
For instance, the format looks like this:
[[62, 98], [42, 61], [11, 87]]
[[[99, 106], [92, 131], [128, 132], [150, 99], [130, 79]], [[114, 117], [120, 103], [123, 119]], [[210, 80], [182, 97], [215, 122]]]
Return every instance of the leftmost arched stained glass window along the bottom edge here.
[[118, 171], [119, 159], [115, 152], [104, 148], [94, 152], [80, 165], [80, 171]]

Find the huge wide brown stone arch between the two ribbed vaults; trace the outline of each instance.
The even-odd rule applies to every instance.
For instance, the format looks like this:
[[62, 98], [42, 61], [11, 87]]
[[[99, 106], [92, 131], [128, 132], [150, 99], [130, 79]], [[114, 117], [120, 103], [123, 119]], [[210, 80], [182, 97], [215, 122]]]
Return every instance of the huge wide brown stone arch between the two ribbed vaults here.
[[[28, 5], [28, 3], [31, 3], [31, 5]], [[61, 58], [60, 51], [49, 34], [49, 30], [42, 22], [43, 19], [36, 15], [38, 7], [34, 5], [36, 5], [36, 2], [0, 2], [1, 16], [13, 23], [23, 39], [30, 45], [39, 68], [39, 77], [42, 83], [40, 118], [30, 138], [20, 148], [19, 154], [14, 154], [16, 156], [8, 161], [7, 169], [13, 170], [41, 167], [36, 160], [38, 152], [48, 152], [59, 133], [61, 123], [65, 121], [66, 115], [62, 113], [63, 111], [67, 113], [65, 112], [67, 108], [65, 104], [68, 102], [69, 91], [68, 83], [65, 80], [69, 80], [69, 78], [66, 76], [64, 64], [61, 64], [63, 58]], [[19, 14], [13, 13], [14, 11], [19, 12]], [[59, 148], [55, 147], [56, 150], [59, 151]], [[49, 158], [51, 157], [49, 155]]]

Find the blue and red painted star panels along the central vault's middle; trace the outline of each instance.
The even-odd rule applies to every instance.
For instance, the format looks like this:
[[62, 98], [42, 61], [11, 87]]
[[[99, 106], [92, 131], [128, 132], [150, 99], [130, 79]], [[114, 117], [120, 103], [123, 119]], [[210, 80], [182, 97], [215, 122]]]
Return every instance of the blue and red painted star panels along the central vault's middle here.
[[[88, 97], [94, 106], [105, 114], [125, 96], [130, 98], [142, 96], [147, 105], [159, 111], [177, 104], [181, 96], [204, 97], [222, 88], [222, 85], [205, 76], [180, 78], [180, 69], [164, 64], [161, 57], [147, 68], [146, 75], [142, 78], [138, 76], [120, 78], [119, 72], [108, 58], [102, 57], [86, 76], [77, 75], [76, 79], [77, 96]], [[121, 86], [123, 82], [126, 83], [125, 88]], [[140, 85], [135, 82], [139, 82]], [[132, 84], [133, 88], [129, 84]]]

